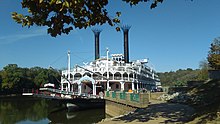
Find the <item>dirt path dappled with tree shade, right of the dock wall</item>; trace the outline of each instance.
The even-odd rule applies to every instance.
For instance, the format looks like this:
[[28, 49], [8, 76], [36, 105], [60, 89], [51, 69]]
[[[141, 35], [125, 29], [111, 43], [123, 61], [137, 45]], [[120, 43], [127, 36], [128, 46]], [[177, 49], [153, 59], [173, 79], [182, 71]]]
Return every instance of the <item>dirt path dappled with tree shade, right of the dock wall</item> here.
[[136, 110], [134, 113], [106, 119], [100, 124], [159, 124], [159, 123], [186, 123], [192, 120], [195, 110], [192, 107], [172, 103], [156, 103], [149, 105], [146, 109]]

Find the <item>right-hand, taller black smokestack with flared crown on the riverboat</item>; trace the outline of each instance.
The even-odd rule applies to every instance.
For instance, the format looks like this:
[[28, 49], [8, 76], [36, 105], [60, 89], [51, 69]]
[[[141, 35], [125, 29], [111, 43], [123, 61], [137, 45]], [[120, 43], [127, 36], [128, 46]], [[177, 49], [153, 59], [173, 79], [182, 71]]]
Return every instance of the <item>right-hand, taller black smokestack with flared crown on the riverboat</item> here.
[[124, 32], [124, 61], [129, 63], [129, 46], [128, 46], [128, 31], [131, 26], [125, 25], [121, 27]]

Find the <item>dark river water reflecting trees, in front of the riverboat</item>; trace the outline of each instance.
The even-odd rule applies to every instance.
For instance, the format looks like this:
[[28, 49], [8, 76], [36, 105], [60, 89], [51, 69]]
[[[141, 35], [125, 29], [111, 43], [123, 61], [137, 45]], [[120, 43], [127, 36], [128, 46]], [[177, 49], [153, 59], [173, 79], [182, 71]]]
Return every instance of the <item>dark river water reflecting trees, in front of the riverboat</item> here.
[[0, 124], [91, 124], [104, 118], [104, 108], [68, 112], [53, 100], [0, 97]]

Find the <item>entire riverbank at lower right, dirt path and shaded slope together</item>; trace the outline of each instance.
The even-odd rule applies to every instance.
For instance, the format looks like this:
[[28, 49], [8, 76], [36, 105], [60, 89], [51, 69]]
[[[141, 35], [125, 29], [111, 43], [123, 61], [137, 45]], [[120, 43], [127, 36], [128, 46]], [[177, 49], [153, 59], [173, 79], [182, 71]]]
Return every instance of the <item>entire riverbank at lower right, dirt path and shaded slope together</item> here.
[[201, 83], [186, 93], [178, 93], [169, 102], [151, 101], [145, 109], [138, 109], [121, 117], [105, 119], [99, 124], [219, 124], [220, 80]]

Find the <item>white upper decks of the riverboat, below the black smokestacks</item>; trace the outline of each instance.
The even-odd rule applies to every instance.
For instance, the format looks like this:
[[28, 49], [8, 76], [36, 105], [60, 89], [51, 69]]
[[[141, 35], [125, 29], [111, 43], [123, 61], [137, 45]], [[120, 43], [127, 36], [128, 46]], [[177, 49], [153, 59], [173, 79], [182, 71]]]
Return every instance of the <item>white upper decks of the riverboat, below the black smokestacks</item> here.
[[[98, 81], [104, 81], [106, 78], [110, 81], [124, 80], [127, 82], [137, 79], [149, 82], [151, 80], [159, 81], [155, 70], [147, 65], [146, 59], [124, 63], [122, 54], [113, 54], [110, 59], [107, 57], [100, 58], [82, 67], [75, 66], [70, 70], [71, 81], [79, 80], [85, 75]], [[68, 70], [62, 71], [62, 76], [68, 78]], [[65, 78], [62, 80], [65, 81]]]

